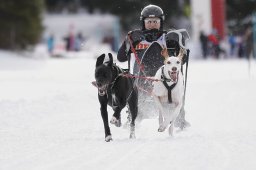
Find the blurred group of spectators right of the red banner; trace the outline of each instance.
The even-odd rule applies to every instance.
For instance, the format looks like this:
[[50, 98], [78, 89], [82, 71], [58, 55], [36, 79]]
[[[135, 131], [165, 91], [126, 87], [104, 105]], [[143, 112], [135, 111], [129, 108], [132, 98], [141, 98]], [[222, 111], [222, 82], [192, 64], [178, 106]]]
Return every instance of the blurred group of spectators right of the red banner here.
[[200, 32], [201, 51], [206, 58], [249, 58], [253, 55], [252, 27], [247, 27], [239, 33], [230, 33], [221, 40], [218, 32], [213, 30], [210, 34]]

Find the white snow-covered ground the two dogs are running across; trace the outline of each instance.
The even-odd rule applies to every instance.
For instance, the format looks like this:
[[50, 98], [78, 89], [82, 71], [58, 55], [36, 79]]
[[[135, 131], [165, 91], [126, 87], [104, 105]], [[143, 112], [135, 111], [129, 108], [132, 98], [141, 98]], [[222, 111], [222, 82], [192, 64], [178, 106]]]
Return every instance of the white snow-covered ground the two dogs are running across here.
[[111, 125], [109, 143], [91, 85], [94, 66], [90, 55], [28, 59], [0, 52], [1, 170], [256, 168], [255, 61], [249, 75], [246, 60], [192, 60], [192, 126], [171, 138], [157, 132], [157, 118], [147, 119], [130, 140], [127, 129]]

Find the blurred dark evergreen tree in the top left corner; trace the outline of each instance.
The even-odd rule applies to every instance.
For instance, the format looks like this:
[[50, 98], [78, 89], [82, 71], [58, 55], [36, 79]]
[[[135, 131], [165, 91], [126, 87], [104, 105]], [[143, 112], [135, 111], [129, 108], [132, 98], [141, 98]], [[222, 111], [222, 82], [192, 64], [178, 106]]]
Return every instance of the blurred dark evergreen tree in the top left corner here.
[[0, 2], [0, 48], [24, 49], [41, 37], [44, 0]]

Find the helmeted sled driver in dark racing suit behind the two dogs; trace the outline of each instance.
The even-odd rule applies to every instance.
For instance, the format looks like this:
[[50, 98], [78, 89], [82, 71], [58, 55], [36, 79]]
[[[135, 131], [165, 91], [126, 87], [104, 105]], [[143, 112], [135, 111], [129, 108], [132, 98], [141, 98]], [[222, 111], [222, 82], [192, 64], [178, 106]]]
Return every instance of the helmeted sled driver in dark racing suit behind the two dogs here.
[[[118, 50], [117, 59], [120, 62], [128, 61], [129, 67], [130, 62], [133, 62], [131, 64], [134, 64], [133, 67], [128, 68], [131, 73], [134, 75], [138, 75], [140, 72], [140, 68], [138, 66], [138, 63], [136, 63], [133, 57], [131, 57], [131, 53], [136, 53], [139, 60], [142, 59], [144, 53], [148, 49], [148, 47], [153, 43], [157, 42], [160, 45], [160, 48], [164, 47], [164, 45], [167, 46], [169, 55], [178, 55], [180, 50], [179, 40], [173, 41], [173, 40], [167, 40], [165, 39], [164, 35], [167, 33], [167, 31], [163, 30], [164, 25], [164, 12], [163, 10], [156, 5], [148, 5], [143, 8], [141, 11], [140, 21], [141, 21], [141, 29], [136, 29], [133, 31], [129, 31], [128, 35], [126, 36], [124, 42], [122, 43], [121, 47]], [[181, 38], [181, 37], [179, 37]], [[131, 47], [131, 44], [133, 47]], [[133, 51], [134, 49], [135, 51]], [[148, 76], [154, 76], [156, 70], [159, 68], [154, 68], [157, 61], [153, 60], [154, 55], [148, 55], [147, 58], [149, 62], [149, 67], [152, 67], [154, 70], [153, 72], [149, 72]], [[152, 60], [151, 60], [152, 57]], [[159, 61], [162, 60], [161, 57], [159, 57]], [[183, 64], [186, 62], [186, 57], [184, 57]], [[160, 61], [162, 63], [162, 61]], [[159, 62], [158, 62], [159, 64]], [[178, 121], [175, 122], [176, 126], [180, 127], [181, 129], [189, 126], [189, 123], [185, 120], [185, 110], [184, 107], [181, 110], [181, 113], [178, 117]]]

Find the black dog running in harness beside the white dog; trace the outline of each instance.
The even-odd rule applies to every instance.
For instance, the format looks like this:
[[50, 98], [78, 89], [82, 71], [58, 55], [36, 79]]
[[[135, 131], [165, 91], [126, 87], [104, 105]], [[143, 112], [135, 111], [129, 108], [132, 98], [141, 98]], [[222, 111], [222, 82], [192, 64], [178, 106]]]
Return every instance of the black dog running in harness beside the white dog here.
[[135, 119], [138, 112], [138, 91], [133, 85], [133, 78], [122, 76], [122, 69], [113, 64], [112, 54], [109, 61], [104, 62], [105, 54], [97, 58], [95, 79], [98, 88], [101, 116], [105, 128], [105, 141], [112, 140], [108, 124], [107, 104], [114, 110], [110, 123], [121, 126], [120, 112], [128, 103], [131, 114], [130, 138], [135, 138]]

